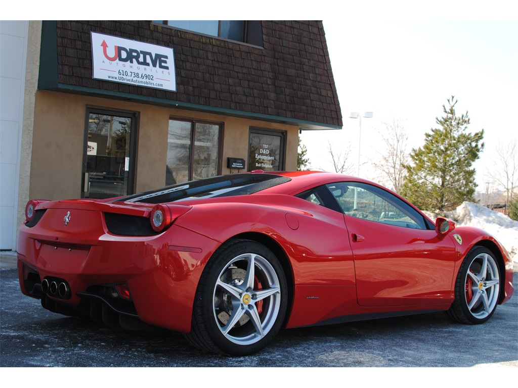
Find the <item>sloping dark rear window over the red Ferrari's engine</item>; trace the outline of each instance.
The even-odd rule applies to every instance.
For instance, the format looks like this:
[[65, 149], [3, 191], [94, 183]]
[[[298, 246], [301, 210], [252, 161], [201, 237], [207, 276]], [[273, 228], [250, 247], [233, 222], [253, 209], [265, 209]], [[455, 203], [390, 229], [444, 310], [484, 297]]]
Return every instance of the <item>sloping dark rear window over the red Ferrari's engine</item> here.
[[242, 196], [289, 181], [288, 177], [273, 174], [220, 175], [141, 192], [118, 201], [156, 204], [195, 198]]

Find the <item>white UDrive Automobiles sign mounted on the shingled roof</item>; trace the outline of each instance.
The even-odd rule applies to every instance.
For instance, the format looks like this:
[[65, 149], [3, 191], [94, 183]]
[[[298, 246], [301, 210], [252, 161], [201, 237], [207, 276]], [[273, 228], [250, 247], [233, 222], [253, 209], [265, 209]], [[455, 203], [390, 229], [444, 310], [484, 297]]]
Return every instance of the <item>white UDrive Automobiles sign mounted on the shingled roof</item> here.
[[176, 92], [172, 48], [91, 33], [93, 78]]

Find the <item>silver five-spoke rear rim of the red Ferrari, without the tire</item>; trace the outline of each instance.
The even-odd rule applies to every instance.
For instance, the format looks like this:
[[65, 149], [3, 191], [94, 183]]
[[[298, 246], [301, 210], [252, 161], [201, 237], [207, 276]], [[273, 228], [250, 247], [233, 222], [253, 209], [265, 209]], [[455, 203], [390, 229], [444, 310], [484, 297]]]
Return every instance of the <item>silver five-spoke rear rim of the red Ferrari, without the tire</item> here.
[[223, 336], [237, 345], [255, 344], [274, 326], [281, 287], [274, 267], [256, 253], [244, 253], [220, 272], [213, 292], [214, 319]]

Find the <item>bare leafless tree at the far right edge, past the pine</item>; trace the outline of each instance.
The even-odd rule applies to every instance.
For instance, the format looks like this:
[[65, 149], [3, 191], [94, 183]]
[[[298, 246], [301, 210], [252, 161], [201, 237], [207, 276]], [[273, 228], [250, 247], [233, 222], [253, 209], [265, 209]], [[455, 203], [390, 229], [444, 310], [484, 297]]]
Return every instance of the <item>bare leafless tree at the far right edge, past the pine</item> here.
[[498, 157], [493, 166], [492, 176], [506, 190], [506, 205], [513, 198], [518, 186], [518, 142], [516, 139], [505, 143], [499, 142], [496, 147]]

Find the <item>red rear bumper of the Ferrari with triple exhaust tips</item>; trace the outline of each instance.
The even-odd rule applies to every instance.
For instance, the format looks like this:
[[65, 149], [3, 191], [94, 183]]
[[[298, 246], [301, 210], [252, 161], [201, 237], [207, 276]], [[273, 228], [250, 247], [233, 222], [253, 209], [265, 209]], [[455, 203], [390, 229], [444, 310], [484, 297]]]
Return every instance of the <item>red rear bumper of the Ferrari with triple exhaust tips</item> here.
[[[115, 312], [122, 320], [138, 317], [166, 329], [190, 331], [198, 280], [218, 242], [175, 225], [156, 236], [106, 233], [95, 244], [71, 238], [52, 241], [33, 229], [20, 227], [18, 238], [18, 277], [25, 295], [66, 315], [89, 314], [98, 320], [103, 316], [98, 306], [103, 306], [109, 322]], [[45, 282], [53, 281], [56, 292], [46, 287]], [[67, 292], [59, 292], [61, 283]], [[121, 284], [127, 285], [129, 299], [117, 295]]]

